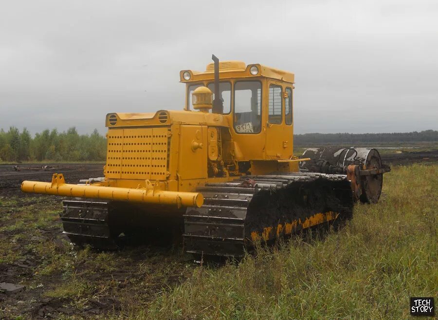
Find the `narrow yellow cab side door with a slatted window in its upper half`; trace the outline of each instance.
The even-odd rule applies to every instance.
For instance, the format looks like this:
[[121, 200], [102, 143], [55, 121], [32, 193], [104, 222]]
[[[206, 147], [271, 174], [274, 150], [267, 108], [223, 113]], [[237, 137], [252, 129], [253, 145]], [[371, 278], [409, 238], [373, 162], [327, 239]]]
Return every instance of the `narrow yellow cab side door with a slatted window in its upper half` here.
[[266, 155], [269, 157], [282, 157], [284, 142], [286, 142], [284, 139], [283, 94], [284, 92], [281, 83], [275, 81], [268, 82]]

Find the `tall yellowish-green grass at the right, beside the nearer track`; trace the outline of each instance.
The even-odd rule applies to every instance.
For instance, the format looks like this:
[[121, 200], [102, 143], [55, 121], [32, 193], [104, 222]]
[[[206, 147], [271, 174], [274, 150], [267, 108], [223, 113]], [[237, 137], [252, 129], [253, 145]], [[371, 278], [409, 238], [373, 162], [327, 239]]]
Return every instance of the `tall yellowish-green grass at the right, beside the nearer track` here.
[[199, 267], [147, 311], [160, 319], [402, 319], [438, 290], [438, 166], [394, 168], [378, 204], [323, 240], [295, 237], [240, 264]]

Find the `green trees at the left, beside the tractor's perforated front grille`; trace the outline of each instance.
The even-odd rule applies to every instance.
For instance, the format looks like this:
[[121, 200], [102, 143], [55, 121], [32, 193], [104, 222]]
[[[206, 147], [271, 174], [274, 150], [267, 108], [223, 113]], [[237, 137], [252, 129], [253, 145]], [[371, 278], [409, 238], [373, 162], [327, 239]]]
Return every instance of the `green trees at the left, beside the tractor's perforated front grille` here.
[[106, 138], [97, 129], [91, 135], [79, 135], [74, 127], [61, 133], [46, 129], [34, 136], [26, 128], [0, 130], [0, 161], [103, 161], [106, 152]]

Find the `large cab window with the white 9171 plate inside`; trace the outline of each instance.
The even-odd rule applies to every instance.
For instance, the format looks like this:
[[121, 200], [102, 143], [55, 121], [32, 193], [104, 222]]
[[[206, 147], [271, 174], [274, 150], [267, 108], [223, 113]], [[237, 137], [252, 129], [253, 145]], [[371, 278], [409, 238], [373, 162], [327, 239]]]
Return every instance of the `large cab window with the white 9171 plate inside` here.
[[238, 134], [261, 131], [261, 83], [238, 81], [234, 84], [234, 130]]

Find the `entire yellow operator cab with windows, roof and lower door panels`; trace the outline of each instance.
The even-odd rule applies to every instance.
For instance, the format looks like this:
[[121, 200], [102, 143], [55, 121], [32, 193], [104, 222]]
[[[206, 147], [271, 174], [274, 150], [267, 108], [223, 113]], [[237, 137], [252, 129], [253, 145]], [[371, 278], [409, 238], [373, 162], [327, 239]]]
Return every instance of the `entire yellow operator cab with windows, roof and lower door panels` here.
[[[247, 149], [243, 154], [252, 154], [252, 159], [261, 154], [263, 159], [292, 156], [293, 73], [260, 64], [217, 60], [203, 72], [180, 71], [180, 80], [186, 84], [184, 110], [223, 115], [233, 140]], [[211, 108], [196, 107], [193, 97], [198, 99], [198, 90], [212, 93]]]

